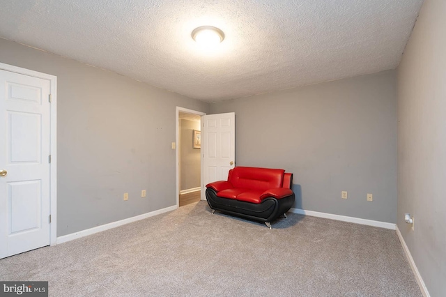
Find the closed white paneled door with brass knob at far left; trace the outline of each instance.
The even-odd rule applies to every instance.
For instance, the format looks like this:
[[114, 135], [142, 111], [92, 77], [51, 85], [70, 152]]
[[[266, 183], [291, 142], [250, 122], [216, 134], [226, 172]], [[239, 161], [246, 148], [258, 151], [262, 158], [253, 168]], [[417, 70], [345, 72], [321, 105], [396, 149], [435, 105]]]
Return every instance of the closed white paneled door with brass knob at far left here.
[[0, 259], [50, 243], [49, 92], [0, 70]]

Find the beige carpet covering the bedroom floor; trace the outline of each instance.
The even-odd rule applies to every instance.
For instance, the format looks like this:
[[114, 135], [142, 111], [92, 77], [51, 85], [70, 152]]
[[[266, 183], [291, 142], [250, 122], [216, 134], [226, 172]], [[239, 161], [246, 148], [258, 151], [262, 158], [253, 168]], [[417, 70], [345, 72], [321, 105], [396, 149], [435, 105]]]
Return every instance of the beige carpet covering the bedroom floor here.
[[49, 296], [422, 296], [395, 231], [290, 214], [264, 224], [206, 201], [0, 260]]

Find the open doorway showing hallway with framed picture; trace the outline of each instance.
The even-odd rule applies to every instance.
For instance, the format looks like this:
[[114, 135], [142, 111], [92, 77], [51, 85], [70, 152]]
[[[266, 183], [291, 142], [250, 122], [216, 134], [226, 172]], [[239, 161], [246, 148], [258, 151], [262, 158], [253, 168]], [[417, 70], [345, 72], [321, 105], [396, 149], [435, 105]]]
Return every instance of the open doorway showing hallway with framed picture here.
[[201, 199], [201, 116], [203, 112], [177, 107], [177, 206]]

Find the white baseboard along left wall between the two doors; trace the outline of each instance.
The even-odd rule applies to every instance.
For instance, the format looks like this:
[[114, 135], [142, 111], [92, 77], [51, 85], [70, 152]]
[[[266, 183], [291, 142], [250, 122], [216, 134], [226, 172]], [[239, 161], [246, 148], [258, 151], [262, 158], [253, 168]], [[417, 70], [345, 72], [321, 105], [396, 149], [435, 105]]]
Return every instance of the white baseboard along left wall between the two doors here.
[[157, 211], [151, 211], [150, 213], [143, 213], [142, 215], [136, 215], [132, 218], [127, 218], [124, 220], [120, 220], [120, 221], [116, 221], [116, 222], [111, 222], [109, 224], [102, 224], [98, 227], [93, 227], [90, 229], [86, 229], [86, 230], [82, 230], [82, 231], [78, 231], [72, 234], [67, 234], [64, 236], [60, 236], [57, 238], [57, 243], [66, 243], [67, 241], [72, 241], [73, 239], [77, 239], [77, 238], [81, 238], [84, 236], [89, 236], [91, 234], [95, 234], [101, 231], [105, 231], [108, 229], [112, 229], [112, 228], [116, 228], [119, 226], [122, 226], [123, 224], [128, 224], [131, 222], [136, 222], [139, 220], [144, 220], [146, 218], [150, 218], [153, 217], [153, 215], [160, 215], [161, 213], [167, 213], [168, 211], [174, 211], [176, 210], [176, 208], [178, 208], [178, 206], [174, 205], [174, 206], [169, 206], [167, 208], [162, 208], [162, 209], [158, 209]]

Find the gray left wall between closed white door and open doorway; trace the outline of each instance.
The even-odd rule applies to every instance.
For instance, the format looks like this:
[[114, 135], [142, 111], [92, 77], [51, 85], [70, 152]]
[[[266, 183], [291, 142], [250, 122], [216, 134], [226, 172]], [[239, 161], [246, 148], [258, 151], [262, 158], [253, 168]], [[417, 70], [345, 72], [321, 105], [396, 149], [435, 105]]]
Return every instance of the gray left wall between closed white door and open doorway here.
[[57, 76], [57, 236], [176, 204], [176, 106], [206, 103], [3, 39], [0, 62]]

